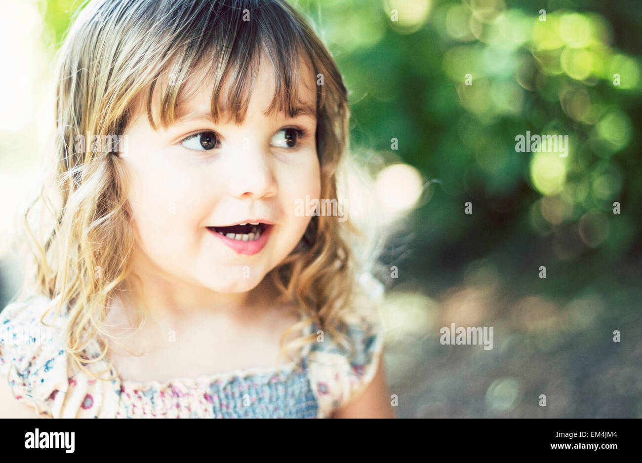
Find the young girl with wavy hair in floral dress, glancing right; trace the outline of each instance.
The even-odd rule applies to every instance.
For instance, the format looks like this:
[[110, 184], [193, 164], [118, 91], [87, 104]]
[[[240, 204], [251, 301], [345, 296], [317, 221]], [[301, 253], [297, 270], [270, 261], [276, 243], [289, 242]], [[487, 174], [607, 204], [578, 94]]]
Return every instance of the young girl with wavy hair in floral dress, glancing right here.
[[3, 414], [394, 417], [377, 247], [338, 196], [347, 92], [299, 13], [94, 0], [58, 80]]

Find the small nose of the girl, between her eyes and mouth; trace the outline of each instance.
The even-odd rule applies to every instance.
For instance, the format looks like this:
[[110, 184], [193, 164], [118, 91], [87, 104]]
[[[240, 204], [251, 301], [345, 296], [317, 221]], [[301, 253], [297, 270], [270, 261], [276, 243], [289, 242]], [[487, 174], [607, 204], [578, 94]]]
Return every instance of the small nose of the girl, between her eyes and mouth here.
[[277, 194], [269, 149], [245, 143], [230, 153], [228, 190], [235, 198], [270, 198]]

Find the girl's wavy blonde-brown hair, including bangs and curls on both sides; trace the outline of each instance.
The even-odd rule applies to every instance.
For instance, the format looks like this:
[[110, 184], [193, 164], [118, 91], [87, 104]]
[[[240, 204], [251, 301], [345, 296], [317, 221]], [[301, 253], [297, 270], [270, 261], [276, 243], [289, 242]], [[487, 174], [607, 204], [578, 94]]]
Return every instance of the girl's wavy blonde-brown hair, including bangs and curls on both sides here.
[[[243, 21], [246, 12], [250, 21]], [[342, 76], [313, 30], [285, 1], [94, 0], [80, 11], [58, 53], [56, 156], [51, 175], [24, 214], [33, 269], [20, 297], [29, 289], [54, 299], [56, 316], [66, 307], [65, 349], [92, 376], [83, 366], [104, 357], [108, 344], [96, 359], [81, 354], [99, 332], [105, 334], [108, 299], [128, 286], [134, 233], [123, 160], [114, 152], [92, 152], [91, 146], [74, 151], [76, 135], [122, 134], [139, 103], [155, 127], [156, 87], [160, 124], [168, 126], [188, 78], [201, 65], [214, 78], [213, 117], [221, 115], [221, 83], [229, 79], [228, 106], [240, 122], [261, 54], [276, 76], [270, 109], [291, 114], [300, 81], [299, 61], [291, 57], [302, 55], [323, 79], [316, 85], [320, 197], [338, 199], [342, 172], [361, 175], [345, 156], [350, 112]], [[176, 85], [166, 83], [168, 76]], [[50, 214], [33, 225], [39, 237], [30, 224], [36, 206]], [[308, 323], [316, 321], [341, 338], [342, 310], [349, 310], [358, 293], [356, 274], [377, 255], [377, 245], [368, 240], [372, 233], [360, 234], [349, 219], [313, 217], [299, 246], [270, 274], [281, 298], [295, 301]], [[360, 248], [369, 261], [353, 252], [357, 242], [370, 243]], [[297, 323], [283, 333], [281, 353], [288, 332], [302, 327]], [[295, 339], [288, 348], [314, 341], [315, 335]]]

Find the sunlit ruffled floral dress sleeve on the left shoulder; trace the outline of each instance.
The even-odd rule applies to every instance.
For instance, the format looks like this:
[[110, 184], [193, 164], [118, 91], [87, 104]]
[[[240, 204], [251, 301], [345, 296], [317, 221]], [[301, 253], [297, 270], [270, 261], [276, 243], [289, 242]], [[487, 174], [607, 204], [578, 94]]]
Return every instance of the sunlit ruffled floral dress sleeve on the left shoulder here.
[[[40, 317], [51, 307], [44, 317]], [[15, 400], [35, 408], [35, 416], [53, 418], [115, 417], [120, 385], [71, 373], [65, 353], [64, 315], [55, 317], [51, 299], [35, 296], [0, 312], [0, 378]], [[94, 349], [85, 350], [96, 358]], [[105, 362], [88, 364], [100, 371]]]

